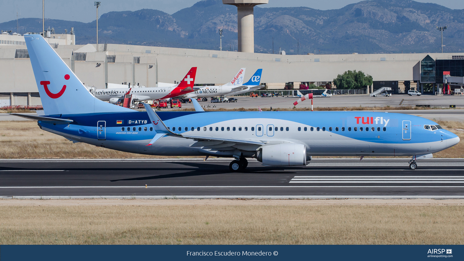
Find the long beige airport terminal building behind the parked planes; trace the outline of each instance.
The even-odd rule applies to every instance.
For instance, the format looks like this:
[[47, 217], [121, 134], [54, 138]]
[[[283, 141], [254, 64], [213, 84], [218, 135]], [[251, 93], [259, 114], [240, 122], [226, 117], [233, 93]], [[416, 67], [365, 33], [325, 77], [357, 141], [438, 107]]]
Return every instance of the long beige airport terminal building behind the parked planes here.
[[[374, 78], [374, 85], [365, 88], [364, 93], [387, 86], [395, 94], [408, 88], [433, 94], [443, 84], [443, 72], [464, 77], [464, 53], [283, 55], [118, 44], [75, 45], [74, 34], [46, 33], [45, 38], [86, 87], [96, 88], [105, 88], [109, 83], [135, 87], [174, 83], [193, 66], [198, 67], [195, 83], [200, 85], [224, 84], [243, 67], [247, 69], [245, 78], [262, 68], [261, 83], [268, 89], [283, 89], [286, 83], [297, 88], [300, 83], [332, 82], [338, 74], [356, 70]], [[0, 35], [0, 72], [0, 106], [41, 104], [24, 36]]]

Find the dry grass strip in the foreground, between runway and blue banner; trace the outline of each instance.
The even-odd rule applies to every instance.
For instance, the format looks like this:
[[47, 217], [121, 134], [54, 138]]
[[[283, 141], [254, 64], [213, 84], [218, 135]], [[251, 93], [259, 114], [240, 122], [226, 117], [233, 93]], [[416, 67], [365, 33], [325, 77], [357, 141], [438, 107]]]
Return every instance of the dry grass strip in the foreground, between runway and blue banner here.
[[42, 200], [44, 205], [31, 206], [3, 204], [6, 201], [0, 201], [0, 244], [464, 243], [462, 203], [229, 200], [224, 205], [213, 200], [187, 205], [171, 200], [173, 204], [136, 205], [131, 200], [107, 200], [111, 205], [50, 205]]

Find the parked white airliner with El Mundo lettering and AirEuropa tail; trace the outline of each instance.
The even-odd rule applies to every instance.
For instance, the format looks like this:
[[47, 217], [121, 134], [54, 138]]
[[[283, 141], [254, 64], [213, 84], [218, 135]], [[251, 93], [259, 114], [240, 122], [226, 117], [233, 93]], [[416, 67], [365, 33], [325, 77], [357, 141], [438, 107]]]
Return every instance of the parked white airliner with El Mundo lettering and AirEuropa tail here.
[[208, 100], [207, 97], [216, 97], [226, 95], [234, 91], [244, 90], [247, 88], [242, 85], [244, 75], [245, 68], [241, 68], [232, 80], [225, 85], [200, 87], [198, 90], [195, 90], [195, 92], [187, 93], [184, 97], [203, 98], [202, 101], [206, 102]]

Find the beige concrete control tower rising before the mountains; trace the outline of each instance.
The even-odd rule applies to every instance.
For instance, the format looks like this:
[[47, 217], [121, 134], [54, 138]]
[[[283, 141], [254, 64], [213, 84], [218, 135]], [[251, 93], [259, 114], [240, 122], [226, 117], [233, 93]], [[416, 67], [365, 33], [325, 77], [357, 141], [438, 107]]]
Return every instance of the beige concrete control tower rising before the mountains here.
[[237, 7], [238, 52], [255, 52], [253, 8], [269, 0], [222, 0], [222, 3]]

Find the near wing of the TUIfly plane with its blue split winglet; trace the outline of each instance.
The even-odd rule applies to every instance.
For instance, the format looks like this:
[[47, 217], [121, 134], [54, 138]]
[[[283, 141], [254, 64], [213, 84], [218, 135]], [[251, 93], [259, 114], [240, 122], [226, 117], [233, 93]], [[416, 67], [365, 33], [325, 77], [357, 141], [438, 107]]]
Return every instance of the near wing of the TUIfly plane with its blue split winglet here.
[[[153, 125], [153, 129], [156, 131], [156, 135], [150, 144], [154, 144], [158, 139], [164, 136], [173, 136], [173, 137], [181, 137], [187, 139], [193, 139], [194, 141], [198, 142], [215, 142], [213, 146], [217, 147], [219, 144], [225, 144], [223, 146], [232, 146], [232, 145], [264, 145], [262, 141], [256, 140], [248, 140], [248, 139], [230, 139], [230, 138], [217, 138], [217, 137], [208, 137], [208, 136], [197, 136], [197, 135], [189, 135], [189, 134], [177, 134], [168, 129], [168, 127], [163, 123], [161, 118], [156, 114], [155, 111], [150, 107], [149, 104], [143, 104], [145, 109], [147, 110], [148, 117], [150, 117], [150, 121]], [[194, 144], [193, 144], [194, 145]], [[205, 147], [205, 145], [201, 145], [199, 147]], [[213, 148], [205, 148], [205, 149], [213, 149]]]

